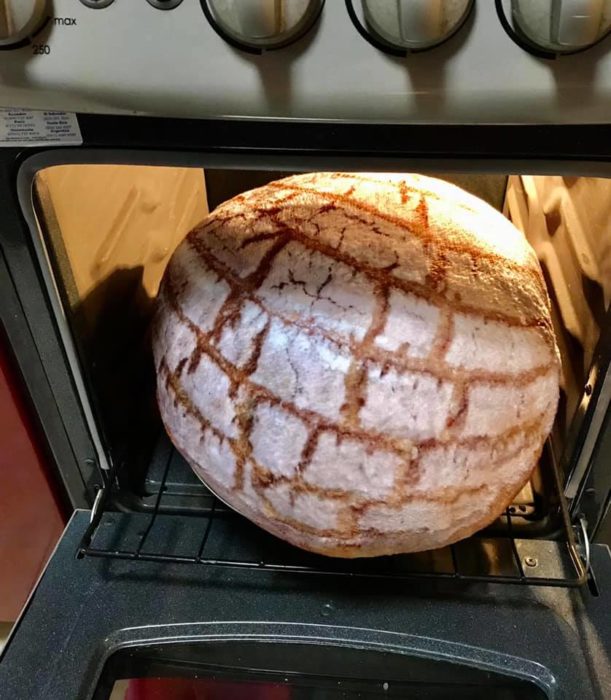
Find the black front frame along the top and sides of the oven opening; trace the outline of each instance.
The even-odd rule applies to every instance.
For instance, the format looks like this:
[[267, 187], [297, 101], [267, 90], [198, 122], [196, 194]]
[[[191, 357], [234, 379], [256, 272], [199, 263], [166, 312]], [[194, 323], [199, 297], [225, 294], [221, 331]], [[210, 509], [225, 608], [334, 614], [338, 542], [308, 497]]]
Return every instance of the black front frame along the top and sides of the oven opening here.
[[[611, 126], [397, 125], [308, 121], [170, 120], [79, 115], [83, 145], [0, 150], [0, 321], [39, 419], [58, 483], [73, 507], [104, 486], [100, 439], [80, 400], [52, 300], [37, 266], [32, 181], [62, 163], [245, 169], [380, 169], [611, 177]], [[611, 321], [611, 317], [610, 317]], [[608, 324], [611, 326], [611, 322]], [[611, 328], [599, 342], [596, 381], [584, 387], [563, 465], [575, 520], [593, 536], [609, 508]], [[606, 381], [605, 381], [606, 379]], [[81, 392], [81, 393], [79, 393]], [[590, 428], [600, 439], [592, 441]], [[589, 439], [588, 439], [588, 436]], [[584, 456], [585, 455], [585, 456]]]

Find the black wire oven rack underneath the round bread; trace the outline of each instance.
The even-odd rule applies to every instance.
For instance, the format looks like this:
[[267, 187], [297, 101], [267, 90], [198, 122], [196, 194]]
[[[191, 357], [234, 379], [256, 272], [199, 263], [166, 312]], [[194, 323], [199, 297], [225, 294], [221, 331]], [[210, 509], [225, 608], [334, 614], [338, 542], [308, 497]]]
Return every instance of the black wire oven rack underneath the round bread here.
[[[559, 475], [549, 456], [544, 465], [549, 472], [548, 495], [550, 488], [554, 490], [550, 499], [556, 518], [553, 532], [547, 528], [541, 534], [541, 517], [536, 512], [524, 516], [529, 509], [515, 504], [490, 528], [443, 549], [340, 560], [304, 552], [276, 539], [228, 508], [198, 480], [192, 477], [188, 483], [185, 476], [191, 475], [190, 469], [165, 436], [156, 455], [157, 472], [152, 469], [149, 474], [144, 511], [113, 510], [114, 479], [109, 479], [108, 486], [97, 494], [79, 557], [389, 581], [574, 587], [587, 579], [587, 540], [571, 526]], [[196, 499], [198, 504], [189, 516], [176, 507], [185, 498]]]

